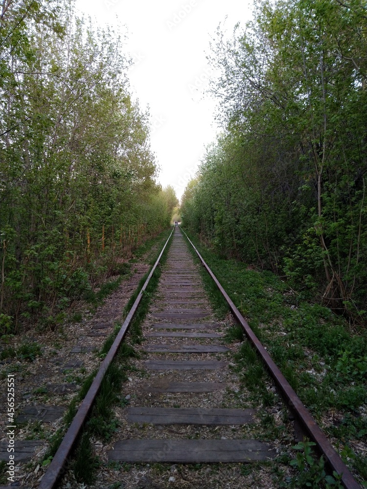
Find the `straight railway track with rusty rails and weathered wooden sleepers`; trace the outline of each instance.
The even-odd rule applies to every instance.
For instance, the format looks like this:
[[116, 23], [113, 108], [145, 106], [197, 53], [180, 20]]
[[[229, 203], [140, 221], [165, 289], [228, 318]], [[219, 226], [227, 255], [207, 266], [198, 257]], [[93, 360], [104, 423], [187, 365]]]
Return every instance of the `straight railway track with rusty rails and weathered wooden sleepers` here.
[[[129, 380], [123, 386], [126, 402], [115, 408], [119, 429], [108, 443], [95, 445], [105, 465], [97, 471], [91, 487], [271, 488], [272, 461], [306, 436], [317, 444], [329, 470], [343, 474], [345, 488], [360, 488], [220, 284], [232, 315], [225, 321], [215, 317], [199, 266], [179, 227], [173, 229], [171, 240], [157, 292], [142, 324], [144, 341], [136, 346], [139, 356], [131, 360]], [[60, 483], [103, 375], [129, 334], [142, 295], [118, 333], [39, 489]], [[251, 393], [241, 383], [243, 373], [236, 361], [240, 344], [229, 342], [226, 336], [234, 323], [242, 325], [247, 341], [270, 374], [266, 388], [275, 395], [272, 405], [254, 406]], [[256, 464], [257, 475], [250, 474], [245, 464]], [[61, 487], [70, 487], [68, 481], [64, 479]]]

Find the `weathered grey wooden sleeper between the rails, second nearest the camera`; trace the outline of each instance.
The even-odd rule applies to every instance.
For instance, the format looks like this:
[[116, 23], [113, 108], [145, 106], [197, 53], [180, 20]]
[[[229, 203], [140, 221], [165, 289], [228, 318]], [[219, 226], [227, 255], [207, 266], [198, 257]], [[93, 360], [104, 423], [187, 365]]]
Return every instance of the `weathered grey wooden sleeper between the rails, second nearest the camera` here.
[[128, 407], [130, 422], [152, 424], [242, 425], [253, 423], [254, 409]]

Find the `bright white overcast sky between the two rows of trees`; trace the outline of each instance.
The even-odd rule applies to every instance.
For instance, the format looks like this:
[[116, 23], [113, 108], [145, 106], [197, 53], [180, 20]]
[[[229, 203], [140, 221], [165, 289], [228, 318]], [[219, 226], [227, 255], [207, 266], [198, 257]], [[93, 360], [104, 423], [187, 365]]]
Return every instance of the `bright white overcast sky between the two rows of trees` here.
[[[205, 146], [215, 139], [216, 101], [202, 96], [210, 68], [206, 54], [218, 24], [243, 26], [250, 2], [238, 0], [76, 0], [76, 13], [100, 24], [125, 24], [129, 70], [140, 107], [149, 106], [151, 148], [161, 167], [159, 182], [172, 185], [181, 198], [194, 176]], [[198, 86], [198, 91], [194, 87]]]

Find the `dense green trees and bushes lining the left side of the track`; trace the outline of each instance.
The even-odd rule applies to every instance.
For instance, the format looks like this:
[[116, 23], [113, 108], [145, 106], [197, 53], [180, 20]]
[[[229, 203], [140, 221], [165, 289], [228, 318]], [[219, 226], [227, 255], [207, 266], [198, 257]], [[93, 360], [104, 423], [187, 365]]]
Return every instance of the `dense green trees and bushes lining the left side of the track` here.
[[52, 317], [169, 225], [123, 38], [71, 2], [0, 13], [0, 333]]

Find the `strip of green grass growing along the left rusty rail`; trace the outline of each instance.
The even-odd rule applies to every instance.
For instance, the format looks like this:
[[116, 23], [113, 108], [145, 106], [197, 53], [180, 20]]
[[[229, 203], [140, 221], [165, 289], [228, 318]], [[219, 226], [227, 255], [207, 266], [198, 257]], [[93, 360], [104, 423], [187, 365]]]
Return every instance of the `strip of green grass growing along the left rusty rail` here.
[[[168, 231], [163, 233], [163, 240], [160, 243], [161, 245], [167, 240], [168, 236]], [[71, 465], [71, 469], [78, 482], [91, 484], [94, 480], [94, 472], [100, 467], [100, 461], [98, 457], [94, 455], [92, 440], [107, 441], [110, 439], [112, 434], [118, 428], [118, 422], [114, 416], [113, 406], [116, 403], [120, 403], [120, 405], [128, 403], [128, 400], [120, 395], [121, 385], [127, 380], [129, 358], [137, 356], [133, 345], [141, 342], [141, 323], [148, 312], [152, 295], [157, 289], [159, 278], [161, 276], [161, 265], [163, 265], [166, 260], [170, 244], [171, 241], [167, 244], [161, 257], [160, 264], [157, 266], [143, 293], [138, 310], [130, 323], [127, 339], [125, 338], [124, 342], [121, 344], [113, 363], [105, 374], [99, 393], [94, 401], [92, 413], [83, 429], [83, 433], [79, 437], [79, 442], [75, 449], [75, 458]], [[159, 246], [158, 252], [154, 253], [155, 256], [152, 257], [152, 265], [156, 262], [158, 255], [161, 252], [161, 247], [162, 246]], [[125, 307], [123, 317], [130, 311], [148, 275], [149, 272], [140, 280], [136, 291]], [[106, 339], [100, 352], [100, 356], [103, 357], [107, 354], [118, 331], [119, 327], [116, 327], [114, 333]]]

